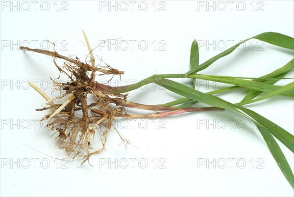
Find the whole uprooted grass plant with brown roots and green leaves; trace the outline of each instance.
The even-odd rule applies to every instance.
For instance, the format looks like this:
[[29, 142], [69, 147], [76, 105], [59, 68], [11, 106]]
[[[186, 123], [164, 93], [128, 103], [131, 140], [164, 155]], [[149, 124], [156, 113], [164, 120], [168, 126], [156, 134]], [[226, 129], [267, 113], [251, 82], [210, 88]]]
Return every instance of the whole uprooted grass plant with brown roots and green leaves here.
[[[187, 112], [230, 110], [235, 113], [241, 113], [253, 120], [266, 141], [279, 168], [294, 187], [293, 171], [276, 142], [276, 139], [281, 141], [287, 148], [294, 152], [294, 136], [260, 114], [243, 107], [246, 104], [258, 102], [275, 95], [293, 98], [293, 82], [286, 85], [274, 84], [279, 80], [289, 79], [284, 78], [284, 76], [293, 70], [294, 58], [281, 68], [261, 76], [260, 78], [214, 76], [197, 73], [209, 67], [219, 58], [229, 55], [239, 45], [249, 39], [259, 39], [282, 48], [294, 50], [294, 38], [275, 32], [261, 33], [238, 43], [202, 64], [199, 64], [199, 47], [195, 40], [191, 46], [190, 71], [187, 73], [153, 75], [136, 84], [110, 86], [98, 83], [95, 81], [96, 77], [110, 75], [109, 81], [111, 81], [114, 75], [123, 75], [124, 72], [112, 68], [101, 59], [101, 63], [96, 65], [93, 50], [90, 47], [86, 34], [84, 32], [83, 34], [89, 49], [88, 56], [90, 57], [90, 60], [87, 61], [86, 58], [85, 62], [81, 61], [78, 57], [62, 56], [56, 51], [21, 47], [22, 50], [51, 56], [60, 74], [64, 74], [68, 78], [67, 83], [52, 80], [54, 87], [62, 92], [61, 96], [54, 99], [51, 99], [35, 84], [30, 85], [47, 100], [47, 107], [37, 109], [37, 111], [49, 110], [49, 113], [41, 120], [46, 120], [48, 122], [47, 126], [56, 131], [55, 133], [59, 134], [57, 139], [60, 147], [65, 148], [67, 153], [72, 155], [73, 158], [80, 156], [84, 158], [82, 162], [84, 163], [89, 161], [91, 155], [103, 151], [107, 141], [107, 134], [110, 131], [117, 132], [122, 142], [127, 146], [129, 141], [127, 141], [112, 124], [113, 120], [117, 117], [156, 118]], [[65, 60], [62, 67], [57, 65], [57, 58]], [[191, 78], [193, 79], [194, 86], [190, 87], [167, 78]], [[196, 79], [232, 84], [233, 86], [203, 93], [195, 89]], [[150, 83], [163, 86], [183, 98], [158, 105], [145, 105], [127, 100], [128, 92]], [[260, 84], [262, 84], [262, 86]], [[215, 94], [236, 90], [240, 87], [244, 87], [249, 91], [239, 103], [233, 104], [215, 96]], [[256, 98], [261, 93], [264, 94]], [[91, 97], [94, 98], [94, 101], [92, 99], [91, 102], [89, 102], [87, 98], [89, 98], [90, 95], [92, 95]], [[55, 104], [56, 100], [64, 98], [66, 98], [66, 101], [63, 104]], [[204, 103], [211, 107], [193, 107], [196, 102]], [[127, 113], [126, 108], [149, 110], [155, 113], [148, 115], [130, 114]], [[102, 147], [93, 150], [90, 141], [93, 139], [94, 135], [98, 135], [102, 142]]]

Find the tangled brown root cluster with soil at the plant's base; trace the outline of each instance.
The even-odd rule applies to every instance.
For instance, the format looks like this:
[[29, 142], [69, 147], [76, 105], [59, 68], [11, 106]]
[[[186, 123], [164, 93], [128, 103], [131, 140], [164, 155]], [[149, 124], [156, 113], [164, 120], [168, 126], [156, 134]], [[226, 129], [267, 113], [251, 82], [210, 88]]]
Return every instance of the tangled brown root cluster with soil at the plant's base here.
[[[119, 134], [125, 147], [129, 144], [129, 141], [125, 140], [112, 125], [116, 117], [127, 116], [122, 106], [122, 103], [128, 103], [126, 101], [127, 94], [107, 93], [111, 87], [99, 84], [94, 80], [96, 71], [101, 72], [100, 75], [121, 75], [123, 71], [113, 69], [102, 60], [100, 65], [93, 68], [77, 57], [61, 56], [55, 51], [50, 52], [27, 47], [21, 47], [21, 49], [52, 56], [59, 72], [69, 78], [67, 83], [60, 83], [56, 79], [51, 79], [55, 89], [63, 92], [60, 97], [53, 100], [68, 97], [64, 104], [55, 104], [53, 100], [48, 99], [48, 107], [37, 109], [37, 111], [50, 110], [50, 113], [41, 121], [48, 121], [47, 126], [56, 131], [54, 134], [59, 133], [57, 141], [61, 148], [66, 149], [67, 153], [72, 155], [73, 158], [76, 156], [83, 157], [84, 163], [89, 160], [91, 155], [105, 150], [107, 134], [112, 128]], [[57, 57], [66, 60], [62, 68], [56, 63]], [[101, 65], [102, 63], [105, 65]], [[94, 98], [91, 103], [87, 102], [89, 95]], [[102, 147], [93, 150], [90, 140], [97, 134], [102, 142]]]

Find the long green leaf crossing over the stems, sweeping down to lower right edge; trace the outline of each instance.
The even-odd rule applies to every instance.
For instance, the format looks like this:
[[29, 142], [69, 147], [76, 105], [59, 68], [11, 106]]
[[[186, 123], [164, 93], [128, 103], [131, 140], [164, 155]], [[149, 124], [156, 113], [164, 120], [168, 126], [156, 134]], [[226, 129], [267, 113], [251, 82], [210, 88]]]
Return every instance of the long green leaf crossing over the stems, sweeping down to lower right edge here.
[[158, 80], [159, 81], [155, 79], [154, 82], [156, 84], [159, 84], [171, 90], [172, 92], [185, 96], [189, 99], [200, 101], [202, 103], [212, 105], [215, 107], [221, 107], [228, 110], [232, 110], [234, 112], [242, 113], [248, 117], [251, 117], [255, 121], [255, 124], [257, 125], [263, 138], [268, 144], [268, 147], [270, 148], [270, 152], [272, 156], [274, 157], [276, 163], [278, 164], [279, 168], [281, 169], [281, 171], [283, 172], [287, 180], [294, 187], [293, 172], [291, 168], [289, 167], [289, 164], [283, 152], [281, 151], [278, 144], [271, 136], [271, 135], [275, 136], [279, 141], [281, 141], [284, 145], [286, 145], [292, 152], [294, 152], [294, 136], [292, 134], [290, 134], [289, 132], [281, 128], [280, 126], [276, 125], [275, 123], [271, 122], [267, 118], [263, 117], [262, 115], [255, 113], [251, 110], [248, 110], [246, 108], [243, 108], [241, 106], [237, 106], [232, 103], [229, 103], [225, 100], [222, 100], [219, 97], [207, 95], [187, 85], [179, 84], [177, 82], [174, 82], [168, 79], [159, 78]]

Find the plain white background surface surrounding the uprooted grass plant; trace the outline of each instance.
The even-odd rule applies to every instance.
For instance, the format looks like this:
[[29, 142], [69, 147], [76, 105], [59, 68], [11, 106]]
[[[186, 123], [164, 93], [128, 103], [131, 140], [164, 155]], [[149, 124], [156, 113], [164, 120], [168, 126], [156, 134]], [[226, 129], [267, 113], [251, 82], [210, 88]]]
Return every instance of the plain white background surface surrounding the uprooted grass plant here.
[[[103, 57], [112, 67], [124, 70], [122, 79], [131, 82], [156, 73], [187, 72], [190, 46], [194, 39], [202, 43], [202, 63], [221, 53], [224, 50], [223, 43], [226, 44], [225, 49], [228, 49], [230, 42], [236, 44], [239, 40], [267, 31], [294, 36], [294, 3], [290, 0], [253, 3], [251, 0], [241, 3], [232, 1], [232, 4], [228, 1], [209, 1], [212, 7], [208, 7], [207, 1], [154, 3], [152, 0], [145, 1], [148, 5], [146, 11], [142, 11], [144, 4], [141, 3], [142, 7], [139, 7], [140, 1], [135, 2], [134, 11], [131, 2], [124, 1], [128, 9], [123, 11], [125, 3], [120, 2], [116, 1], [117, 7], [109, 7], [108, 1], [99, 3], [94, 0], [36, 1], [36, 4], [31, 1], [13, 1], [16, 5], [13, 7], [11, 1], [1, 1], [0, 195], [293, 196], [293, 188], [276, 165], [258, 130], [251, 128], [249, 119], [227, 111], [182, 114], [161, 121], [144, 120], [143, 123], [147, 122], [146, 128], [138, 121], [120, 122], [118, 129], [133, 146], [128, 146], [127, 150], [123, 145], [119, 146], [118, 135], [111, 131], [106, 151], [90, 160], [94, 167], [87, 163], [79, 167], [80, 161], [76, 160], [65, 164], [49, 157], [66, 158], [67, 155], [64, 150], [57, 148], [55, 137], [50, 138], [53, 134], [51, 130], [43, 129], [39, 122], [33, 125], [34, 119], [40, 119], [46, 113], [35, 111], [41, 108], [45, 100], [32, 88], [27, 89], [25, 82], [39, 80], [37, 85], [46, 86], [47, 83], [41, 84], [41, 81], [57, 78], [58, 70], [50, 57], [20, 51], [22, 44], [27, 46], [29, 43], [31, 48], [46, 49], [47, 45], [42, 41], [50, 40], [57, 43], [60, 54], [84, 59], [88, 51], [81, 29], [86, 31], [93, 48], [101, 40], [121, 38], [129, 44], [126, 50], [122, 46], [118, 46], [117, 50], [105, 46], [97, 49], [95, 55]], [[48, 4], [50, 7], [46, 11]], [[154, 4], [157, 6], [154, 7]], [[162, 11], [159, 11], [160, 7]], [[131, 48], [130, 40], [137, 43], [134, 49]], [[145, 51], [139, 48], [140, 41], [147, 42]], [[155, 50], [152, 44], [154, 41], [157, 43]], [[212, 44], [208, 48], [207, 42]], [[253, 42], [256, 46], [252, 48]], [[257, 40], [253, 42], [246, 42], [244, 50], [236, 50], [201, 73], [259, 77], [293, 58], [290, 50], [257, 43]], [[162, 43], [164, 46], [161, 49], [165, 51], [159, 50]], [[293, 72], [288, 77], [293, 77]], [[114, 80], [119, 83], [119, 78]], [[189, 84], [188, 80], [181, 82]], [[207, 91], [203, 87], [197, 88]], [[51, 95], [51, 88], [43, 89]], [[165, 103], [180, 98], [167, 90], [155, 89], [150, 85], [146, 90], [130, 92], [128, 98], [145, 104]], [[56, 96], [56, 92], [54, 94]], [[229, 93], [221, 97], [238, 102], [244, 95]], [[292, 99], [276, 96], [246, 107], [293, 134]], [[234, 119], [231, 128], [228, 119]], [[199, 124], [201, 120], [204, 125]], [[224, 128], [221, 120], [226, 122]], [[240, 125], [236, 124], [238, 120]], [[238, 128], [243, 127], [244, 121], [246, 127]], [[162, 124], [163, 129], [160, 128]], [[95, 140], [98, 141], [98, 138]], [[293, 167], [293, 153], [282, 144], [281, 148]], [[134, 160], [134, 168], [131, 159]], [[215, 159], [213, 163], [216, 167], [213, 164], [208, 165], [208, 168], [206, 164], [199, 165], [199, 161], [206, 162], [207, 159], [210, 162]], [[232, 168], [229, 159], [233, 159]], [[241, 161], [239, 167], [236, 162], [238, 159]], [[33, 160], [36, 161], [35, 167]], [[139, 160], [143, 161], [141, 166]], [[27, 161], [30, 166], [26, 169]], [[46, 169], [48, 161], [50, 163]], [[101, 162], [105, 161], [107, 164], [102, 165]], [[108, 166], [109, 161], [114, 164]], [[128, 167], [123, 169], [125, 161], [128, 161]], [[148, 164], [143, 169], [145, 161]], [[222, 161], [226, 161], [223, 169], [220, 168], [223, 166]], [[242, 161], [246, 162], [244, 168], [240, 168], [243, 166]], [[15, 164], [11, 165], [11, 162]], [[165, 168], [160, 168], [160, 164]]]

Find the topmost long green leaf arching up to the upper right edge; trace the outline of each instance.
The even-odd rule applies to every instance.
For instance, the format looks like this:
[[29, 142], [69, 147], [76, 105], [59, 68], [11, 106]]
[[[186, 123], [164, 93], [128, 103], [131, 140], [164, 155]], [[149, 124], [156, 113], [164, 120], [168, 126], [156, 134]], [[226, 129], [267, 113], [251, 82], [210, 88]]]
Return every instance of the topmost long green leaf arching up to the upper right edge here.
[[231, 47], [230, 49], [225, 50], [224, 52], [220, 53], [217, 56], [214, 56], [210, 59], [208, 59], [207, 61], [205, 61], [204, 63], [200, 64], [197, 68], [193, 68], [190, 71], [188, 71], [186, 73], [186, 75], [191, 75], [191, 74], [195, 74], [196, 72], [203, 70], [205, 68], [207, 68], [208, 66], [210, 66], [213, 62], [215, 62], [216, 60], [220, 59], [221, 57], [227, 56], [229, 54], [231, 54], [235, 49], [237, 49], [241, 44], [243, 44], [244, 42], [250, 40], [250, 39], [259, 39], [261, 41], [264, 42], [268, 42], [270, 44], [279, 46], [279, 47], [283, 47], [286, 49], [292, 49], [294, 50], [294, 38], [281, 34], [281, 33], [276, 33], [276, 32], [265, 32], [265, 33], [261, 33], [258, 34], [256, 36], [253, 36], [251, 38], [248, 38], [236, 45], [234, 45], [233, 47]]

